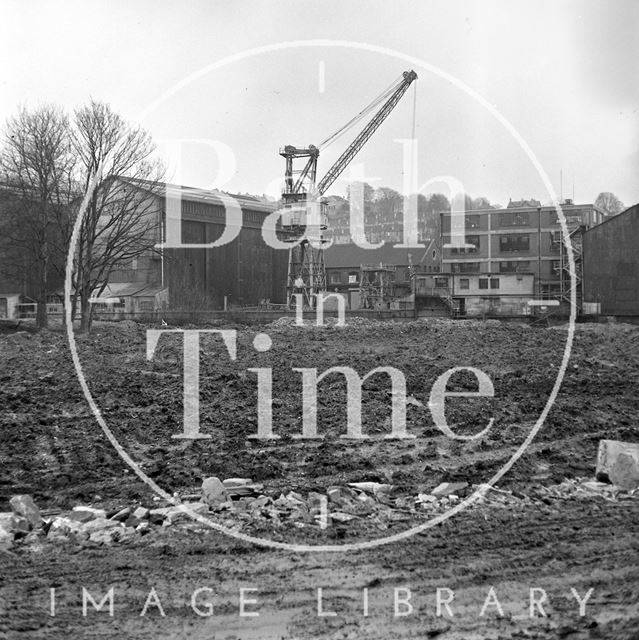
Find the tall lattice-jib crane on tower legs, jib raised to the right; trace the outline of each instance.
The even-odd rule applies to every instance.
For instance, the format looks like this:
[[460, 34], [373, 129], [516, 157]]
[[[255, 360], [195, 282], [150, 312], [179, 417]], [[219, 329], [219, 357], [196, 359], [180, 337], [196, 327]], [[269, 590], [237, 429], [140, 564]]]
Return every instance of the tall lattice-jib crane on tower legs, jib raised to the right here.
[[[359, 153], [416, 79], [417, 74], [413, 70], [405, 71], [399, 80], [394, 81], [390, 87], [320, 145], [310, 144], [307, 147], [286, 145], [280, 149], [279, 153], [286, 163], [282, 192], [282, 230], [285, 239], [293, 243], [289, 250], [286, 287], [286, 301], [289, 308], [296, 302], [295, 294], [302, 294], [304, 307], [312, 309], [315, 296], [320, 291], [326, 290], [323, 245], [327, 241], [322, 232], [327, 227], [328, 205], [321, 196]], [[326, 175], [316, 182], [320, 149], [326, 148], [337, 140], [380, 103], [381, 107], [375, 115], [326, 172]], [[303, 159], [306, 160], [304, 166], [301, 169], [295, 169], [294, 164]]]

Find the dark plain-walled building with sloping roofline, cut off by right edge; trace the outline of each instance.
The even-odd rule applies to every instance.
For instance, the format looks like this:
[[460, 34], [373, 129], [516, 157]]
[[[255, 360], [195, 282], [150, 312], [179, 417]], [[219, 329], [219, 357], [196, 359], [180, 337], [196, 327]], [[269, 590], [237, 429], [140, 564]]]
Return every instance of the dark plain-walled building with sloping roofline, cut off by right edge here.
[[583, 234], [584, 311], [639, 317], [639, 204]]

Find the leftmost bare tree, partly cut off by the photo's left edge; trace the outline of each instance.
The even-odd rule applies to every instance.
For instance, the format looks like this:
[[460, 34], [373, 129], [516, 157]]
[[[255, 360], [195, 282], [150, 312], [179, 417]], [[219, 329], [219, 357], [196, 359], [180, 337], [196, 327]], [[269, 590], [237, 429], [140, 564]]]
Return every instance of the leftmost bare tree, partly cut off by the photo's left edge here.
[[21, 108], [7, 121], [0, 167], [3, 271], [33, 287], [36, 326], [42, 328], [51, 276], [62, 273], [70, 232], [74, 157], [68, 117], [52, 105]]

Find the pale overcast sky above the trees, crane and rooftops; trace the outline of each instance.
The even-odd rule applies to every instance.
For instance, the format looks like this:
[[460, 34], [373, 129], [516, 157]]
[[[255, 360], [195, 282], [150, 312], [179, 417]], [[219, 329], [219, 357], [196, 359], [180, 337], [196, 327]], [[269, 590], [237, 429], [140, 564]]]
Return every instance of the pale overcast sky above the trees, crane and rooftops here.
[[[329, 193], [364, 178], [424, 193], [454, 181], [504, 205], [553, 191], [639, 202], [639, 0], [0, 6], [0, 122], [106, 101], [150, 131], [175, 182], [276, 196], [280, 147], [318, 144], [412, 68]], [[320, 150], [319, 177], [356, 133]]]

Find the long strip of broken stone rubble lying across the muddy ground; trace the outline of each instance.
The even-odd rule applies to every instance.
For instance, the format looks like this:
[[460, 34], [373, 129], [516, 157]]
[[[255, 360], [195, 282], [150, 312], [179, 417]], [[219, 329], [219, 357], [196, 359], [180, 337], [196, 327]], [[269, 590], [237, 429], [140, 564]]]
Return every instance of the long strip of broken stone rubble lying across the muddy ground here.
[[[239, 491], [234, 493], [236, 490]], [[36, 528], [31, 522], [37, 521], [35, 516], [40, 513], [38, 507], [30, 496], [15, 496], [11, 502], [14, 512], [0, 513], [0, 549], [12, 548], [16, 542], [20, 542], [37, 550], [45, 540], [89, 545], [127, 544], [157, 527], [192, 524], [193, 512], [236, 530], [259, 522], [268, 522], [275, 527], [320, 527], [325, 520], [342, 526], [356, 521], [369, 522], [375, 528], [385, 530], [395, 522], [419, 520], [444, 513], [471, 494], [478, 494], [473, 500], [475, 506], [490, 509], [543, 506], [574, 499], [600, 498], [618, 502], [639, 497], [639, 491], [634, 488], [629, 490], [589, 478], [565, 479], [552, 486], [536, 485], [528, 495], [488, 484], [470, 485], [467, 482], [443, 482], [430, 492], [414, 493], [398, 492], [391, 484], [371, 481], [331, 486], [326, 493], [310, 491], [307, 495], [291, 490], [275, 497], [260, 493], [261, 490], [261, 485], [250, 478], [221, 481], [212, 477], [203, 482], [201, 494], [184, 496], [200, 497], [200, 500], [179, 502], [180, 498], [176, 497], [178, 504], [154, 508], [129, 505], [110, 513], [100, 508], [78, 505], [49, 520], [40, 517], [40, 524]], [[32, 520], [18, 515], [16, 510], [29, 514]]]

